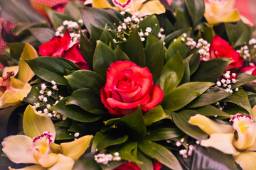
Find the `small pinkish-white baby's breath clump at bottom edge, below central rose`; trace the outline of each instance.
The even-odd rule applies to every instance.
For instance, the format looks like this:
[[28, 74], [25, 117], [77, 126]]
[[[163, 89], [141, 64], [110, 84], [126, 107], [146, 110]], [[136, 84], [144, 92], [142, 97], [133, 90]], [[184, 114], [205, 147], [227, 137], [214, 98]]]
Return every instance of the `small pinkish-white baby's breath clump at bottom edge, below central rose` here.
[[114, 152], [114, 156], [112, 154], [100, 153], [95, 155], [95, 162], [98, 164], [107, 165], [111, 161], [121, 161], [121, 157], [119, 157], [118, 152]]

